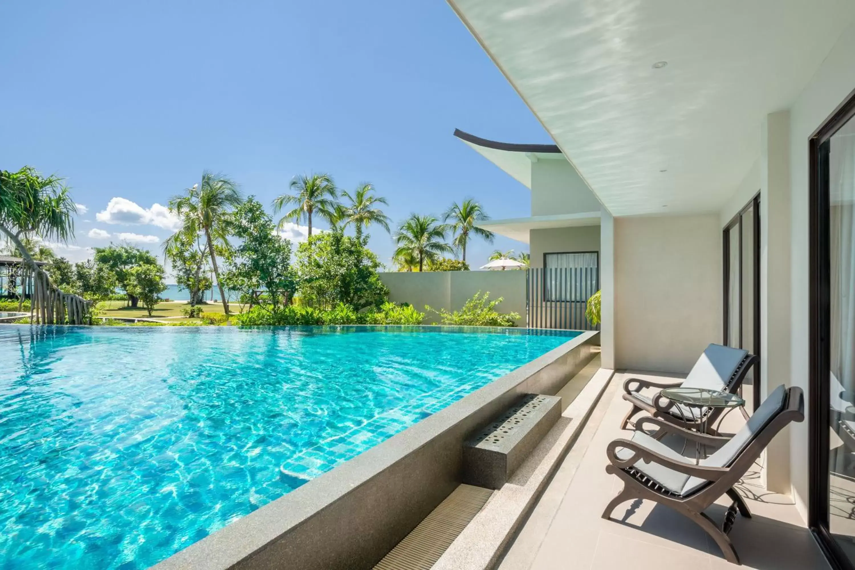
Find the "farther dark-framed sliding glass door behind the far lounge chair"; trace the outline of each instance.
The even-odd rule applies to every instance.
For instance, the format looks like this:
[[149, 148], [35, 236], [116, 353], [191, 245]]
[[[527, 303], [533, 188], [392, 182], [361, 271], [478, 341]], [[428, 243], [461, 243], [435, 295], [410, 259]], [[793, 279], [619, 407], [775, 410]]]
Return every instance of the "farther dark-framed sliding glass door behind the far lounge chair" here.
[[[760, 195], [724, 228], [724, 344], [760, 354]], [[760, 401], [760, 363], [746, 374], [746, 408]]]

